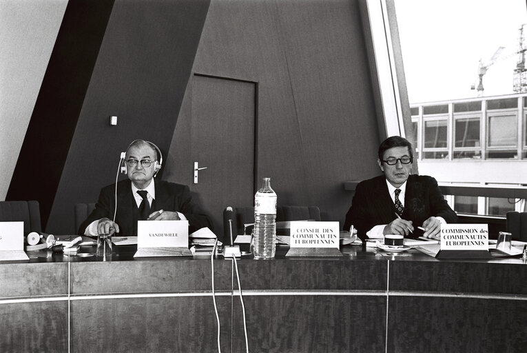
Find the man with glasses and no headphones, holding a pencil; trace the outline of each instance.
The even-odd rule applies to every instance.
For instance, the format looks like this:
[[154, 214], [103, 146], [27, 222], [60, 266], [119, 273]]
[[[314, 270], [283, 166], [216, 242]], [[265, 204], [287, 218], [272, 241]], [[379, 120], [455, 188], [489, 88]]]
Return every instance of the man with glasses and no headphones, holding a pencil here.
[[377, 163], [384, 175], [362, 181], [355, 189], [344, 229], [353, 225], [361, 239], [402, 234], [440, 239], [441, 223], [456, 223], [433, 177], [410, 174], [411, 143], [398, 136], [379, 146]]

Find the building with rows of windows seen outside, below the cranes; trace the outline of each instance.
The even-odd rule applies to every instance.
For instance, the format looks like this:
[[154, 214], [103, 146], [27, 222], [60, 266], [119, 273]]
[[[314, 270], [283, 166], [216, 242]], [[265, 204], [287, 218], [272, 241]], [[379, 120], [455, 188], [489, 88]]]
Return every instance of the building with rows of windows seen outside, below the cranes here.
[[[412, 103], [420, 174], [440, 185], [527, 186], [527, 94]], [[460, 213], [505, 216], [526, 211], [525, 199], [446, 196]]]

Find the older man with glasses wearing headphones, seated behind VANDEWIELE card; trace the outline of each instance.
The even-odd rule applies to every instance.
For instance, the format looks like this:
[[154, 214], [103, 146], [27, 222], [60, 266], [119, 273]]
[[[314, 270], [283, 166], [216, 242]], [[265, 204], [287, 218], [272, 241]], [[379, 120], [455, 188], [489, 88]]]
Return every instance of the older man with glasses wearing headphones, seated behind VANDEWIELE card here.
[[137, 234], [137, 221], [189, 221], [189, 233], [211, 223], [192, 201], [189, 187], [154, 179], [161, 169], [161, 150], [154, 143], [136, 140], [126, 150], [121, 171], [129, 180], [101, 190], [94, 211], [79, 228], [79, 234]]

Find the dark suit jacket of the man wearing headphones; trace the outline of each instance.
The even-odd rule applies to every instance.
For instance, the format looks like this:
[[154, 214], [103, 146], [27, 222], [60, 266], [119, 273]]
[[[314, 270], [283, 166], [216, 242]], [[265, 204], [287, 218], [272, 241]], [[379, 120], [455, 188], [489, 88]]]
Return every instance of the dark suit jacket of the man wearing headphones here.
[[[209, 227], [212, 230], [208, 216], [203, 214], [196, 203], [192, 201], [187, 185], [157, 179], [154, 179], [154, 183], [156, 199], [152, 201], [150, 212], [165, 210], [184, 214], [189, 221], [189, 234], [203, 227]], [[79, 234], [84, 234], [86, 227], [97, 219], [114, 219], [114, 210], [115, 184], [111, 184], [101, 190], [95, 209], [81, 224]], [[119, 234], [137, 234], [137, 222], [134, 221], [134, 213], [137, 214], [137, 212], [137, 204], [132, 195], [132, 182], [130, 180], [119, 181], [117, 183], [117, 213], [115, 216], [115, 222], [119, 225]]]

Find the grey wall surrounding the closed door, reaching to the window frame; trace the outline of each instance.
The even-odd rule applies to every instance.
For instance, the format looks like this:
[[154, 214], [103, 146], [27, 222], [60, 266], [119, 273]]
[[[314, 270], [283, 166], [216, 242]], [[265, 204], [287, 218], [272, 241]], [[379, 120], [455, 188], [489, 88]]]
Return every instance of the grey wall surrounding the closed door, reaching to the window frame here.
[[[323, 220], [344, 221], [342, 183], [379, 172], [357, 1], [213, 0], [192, 71], [258, 82], [258, 179], [271, 177], [279, 205], [318, 205]], [[187, 123], [169, 158], [187, 163], [172, 157], [185, 148], [178, 129]], [[175, 168], [171, 178], [189, 178]]]

